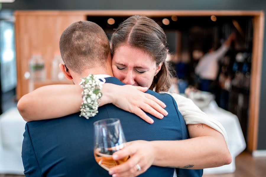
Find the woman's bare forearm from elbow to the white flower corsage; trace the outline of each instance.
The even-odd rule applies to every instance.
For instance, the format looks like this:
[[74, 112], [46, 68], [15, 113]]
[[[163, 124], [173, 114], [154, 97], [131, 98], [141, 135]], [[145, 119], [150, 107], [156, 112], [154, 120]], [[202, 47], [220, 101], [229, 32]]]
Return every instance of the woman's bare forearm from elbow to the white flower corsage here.
[[17, 108], [27, 122], [62, 117], [79, 112], [81, 92], [79, 85], [43, 86], [22, 96]]

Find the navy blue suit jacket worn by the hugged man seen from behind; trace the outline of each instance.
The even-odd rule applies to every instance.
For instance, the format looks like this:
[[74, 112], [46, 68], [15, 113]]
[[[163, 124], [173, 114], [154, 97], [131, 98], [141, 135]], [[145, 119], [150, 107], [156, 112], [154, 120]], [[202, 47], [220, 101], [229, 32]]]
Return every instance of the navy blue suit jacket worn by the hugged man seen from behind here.
[[[106, 82], [124, 85], [114, 77], [106, 78]], [[99, 113], [89, 120], [76, 113], [57, 119], [28, 122], [22, 145], [25, 176], [110, 176], [93, 156], [93, 122], [100, 119], [119, 118], [127, 141], [187, 139], [186, 124], [173, 97], [150, 90], [146, 93], [166, 104], [168, 116], [157, 119], [148, 114], [154, 119], [153, 124], [148, 124], [135, 114], [107, 104], [101, 106]], [[140, 176], [172, 177], [173, 172], [174, 168], [151, 166]], [[177, 169], [177, 174], [202, 176], [202, 170]]]

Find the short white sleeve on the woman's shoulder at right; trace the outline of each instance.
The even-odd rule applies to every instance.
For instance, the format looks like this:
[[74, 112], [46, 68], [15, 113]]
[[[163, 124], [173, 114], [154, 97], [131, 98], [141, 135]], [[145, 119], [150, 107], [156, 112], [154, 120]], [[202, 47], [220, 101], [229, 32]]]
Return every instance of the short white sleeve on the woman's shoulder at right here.
[[202, 112], [200, 108], [196, 106], [191, 99], [188, 99], [179, 94], [170, 95], [173, 96], [173, 98], [175, 99], [176, 104], [178, 106], [178, 110], [184, 117], [186, 124], [206, 124], [220, 132], [227, 143], [228, 137], [226, 131], [223, 125], [218, 120], [207, 116], [207, 114]]

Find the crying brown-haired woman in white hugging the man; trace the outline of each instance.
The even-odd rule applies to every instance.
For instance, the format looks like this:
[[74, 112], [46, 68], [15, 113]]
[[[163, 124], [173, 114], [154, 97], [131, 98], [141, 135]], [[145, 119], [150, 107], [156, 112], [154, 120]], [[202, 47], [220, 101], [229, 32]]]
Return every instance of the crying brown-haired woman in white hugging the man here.
[[[113, 53], [112, 70], [116, 78], [125, 84], [148, 87], [158, 93], [167, 92], [169, 90], [171, 86], [171, 75], [168, 69], [168, 63], [165, 61], [168, 54], [166, 35], [156, 22], [140, 15], [129, 17], [115, 30], [111, 44]], [[61, 65], [61, 67], [64, 66]], [[108, 83], [105, 83], [102, 89], [103, 96], [107, 94], [106, 85], [108, 85]], [[109, 86], [110, 85], [108, 85], [108, 87]], [[73, 110], [73, 107], [75, 108], [74, 110], [78, 110], [80, 104], [76, 105], [75, 102], [66, 103], [60, 99], [56, 102], [51, 102], [47, 98], [47, 95], [52, 94], [54, 90], [65, 90], [68, 87], [70, 86], [51, 86], [49, 87], [52, 88], [50, 90], [33, 91], [29, 96], [24, 96], [23, 100], [20, 100], [20, 105], [24, 100], [27, 100], [28, 97], [34, 96], [38, 97], [38, 99], [42, 99], [42, 104], [38, 105], [35, 104], [34, 101], [25, 101], [25, 103], [27, 103], [27, 108], [24, 109], [23, 114], [25, 116], [22, 117], [27, 117], [28, 121], [36, 120], [37, 118], [30, 114], [30, 109], [36, 111], [40, 109], [39, 106], [42, 106], [42, 109], [44, 109], [43, 106], [45, 106], [45, 109], [48, 110], [60, 104], [63, 104], [65, 110], [68, 110], [68, 112], [61, 109], [52, 113], [44, 112], [40, 114], [43, 117], [38, 117], [38, 120], [62, 117], [77, 112], [71, 112], [69, 110]], [[127, 91], [127, 88], [129, 88], [123, 86], [112, 87], [114, 89], [109, 89], [108, 91], [114, 91], [116, 94], [118, 91], [122, 94], [123, 91]], [[138, 89], [143, 91], [141, 87], [138, 87]], [[77, 86], [74, 91], [73, 89], [69, 89], [68, 93], [68, 95], [64, 95], [64, 97], [69, 98], [67, 100], [80, 98], [80, 87]], [[139, 105], [142, 104], [140, 101], [135, 100], [136, 102], [134, 102], [134, 98], [130, 98], [130, 96], [126, 101], [121, 101], [121, 98], [125, 99], [121, 94], [115, 100], [108, 100], [105, 103], [112, 102], [121, 109], [139, 115], [147, 122], [150, 121], [150, 118], [142, 110], [158, 118], [167, 115], [160, 106], [154, 106], [154, 104], [150, 104], [151, 102], [147, 100], [146, 104], [151, 106], [152, 109], [146, 109], [147, 105], [142, 107]], [[138, 92], [137, 94], [140, 93]], [[42, 98], [40, 98], [40, 96], [42, 96]], [[128, 142], [124, 149], [114, 153], [113, 158], [120, 159], [126, 155], [130, 155], [129, 160], [124, 164], [111, 168], [109, 171], [111, 175], [116, 177], [137, 176], [145, 172], [151, 165], [201, 169], [231, 163], [231, 155], [226, 145], [226, 132], [223, 126], [218, 121], [208, 118], [191, 100], [178, 94], [173, 94], [172, 96], [175, 98], [179, 111], [185, 119], [191, 139], [151, 142], [138, 140]], [[162, 106], [158, 100], [153, 98], [152, 100], [153, 103], [157, 102]], [[82, 102], [82, 100], [80, 102]], [[104, 104], [102, 100], [101, 104]], [[124, 104], [134, 104], [135, 107], [133, 106], [133, 109], [137, 111], [127, 109], [126, 107], [130, 106], [124, 106]], [[140, 109], [142, 110], [140, 111]], [[139, 168], [137, 168], [136, 165], [138, 165]], [[189, 176], [189, 171], [185, 174]]]

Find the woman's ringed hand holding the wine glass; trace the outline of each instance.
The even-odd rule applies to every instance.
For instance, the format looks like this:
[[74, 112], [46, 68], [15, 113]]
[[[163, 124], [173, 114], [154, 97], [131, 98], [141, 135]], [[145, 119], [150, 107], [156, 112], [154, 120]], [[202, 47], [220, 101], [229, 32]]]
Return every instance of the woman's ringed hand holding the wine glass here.
[[[154, 152], [153, 144], [149, 141], [127, 142], [123, 149], [113, 153], [113, 159], [119, 160], [127, 156], [130, 156], [130, 158], [125, 163], [110, 168], [109, 174], [113, 175], [112, 177], [138, 176], [153, 164]], [[137, 164], [141, 168], [139, 171], [137, 171]]]

